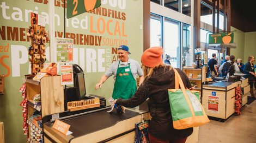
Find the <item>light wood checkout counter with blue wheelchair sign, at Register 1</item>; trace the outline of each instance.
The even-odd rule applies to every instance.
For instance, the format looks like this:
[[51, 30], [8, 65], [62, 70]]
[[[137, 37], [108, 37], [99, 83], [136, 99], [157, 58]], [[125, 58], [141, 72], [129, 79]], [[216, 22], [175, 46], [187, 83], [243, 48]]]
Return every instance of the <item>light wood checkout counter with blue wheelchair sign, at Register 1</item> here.
[[248, 79], [237, 82], [220, 80], [203, 85], [202, 105], [209, 119], [225, 121], [235, 113], [235, 88], [242, 87], [242, 105], [247, 103]]

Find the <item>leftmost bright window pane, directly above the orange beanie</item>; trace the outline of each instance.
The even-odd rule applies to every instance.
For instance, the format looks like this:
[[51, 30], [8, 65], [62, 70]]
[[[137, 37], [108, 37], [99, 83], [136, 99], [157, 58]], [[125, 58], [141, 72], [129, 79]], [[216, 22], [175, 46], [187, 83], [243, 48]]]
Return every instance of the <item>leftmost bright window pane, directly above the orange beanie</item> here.
[[162, 46], [161, 16], [151, 14], [150, 47]]

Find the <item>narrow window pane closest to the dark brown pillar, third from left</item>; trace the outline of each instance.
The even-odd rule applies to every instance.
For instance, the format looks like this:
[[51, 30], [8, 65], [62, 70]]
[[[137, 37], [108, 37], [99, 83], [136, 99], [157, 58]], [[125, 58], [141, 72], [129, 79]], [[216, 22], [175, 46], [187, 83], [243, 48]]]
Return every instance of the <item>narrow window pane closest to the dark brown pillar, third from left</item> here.
[[182, 41], [182, 67], [183, 66], [190, 66], [190, 60], [192, 59], [191, 54], [193, 53], [193, 50], [190, 48], [190, 31], [191, 26], [188, 24], [183, 24], [182, 26], [183, 31], [183, 41]]

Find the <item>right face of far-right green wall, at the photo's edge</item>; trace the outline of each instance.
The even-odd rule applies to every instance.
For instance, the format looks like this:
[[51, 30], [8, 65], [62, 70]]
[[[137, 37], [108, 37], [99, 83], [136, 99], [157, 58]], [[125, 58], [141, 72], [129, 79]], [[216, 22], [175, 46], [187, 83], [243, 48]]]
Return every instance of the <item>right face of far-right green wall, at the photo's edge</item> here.
[[256, 32], [245, 32], [245, 61], [251, 55], [256, 56]]

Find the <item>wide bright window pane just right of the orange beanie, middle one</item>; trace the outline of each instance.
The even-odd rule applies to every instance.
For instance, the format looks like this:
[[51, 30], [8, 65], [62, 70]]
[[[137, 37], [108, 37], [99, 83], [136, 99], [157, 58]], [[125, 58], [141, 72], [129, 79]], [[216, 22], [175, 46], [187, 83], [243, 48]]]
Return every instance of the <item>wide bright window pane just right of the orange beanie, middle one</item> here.
[[171, 19], [164, 19], [164, 57], [170, 56], [170, 64], [174, 68], [180, 67], [180, 47], [179, 47], [179, 22]]

